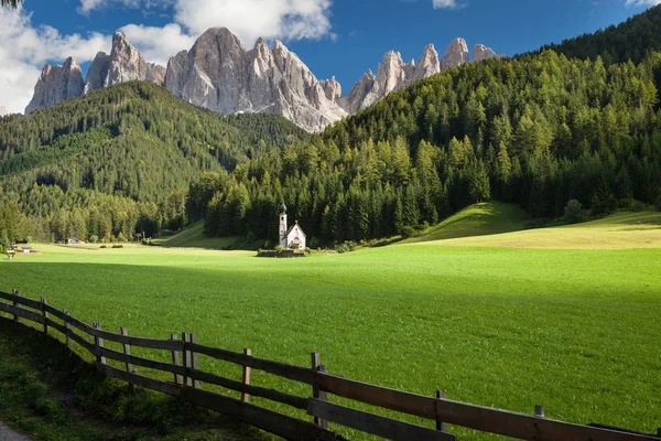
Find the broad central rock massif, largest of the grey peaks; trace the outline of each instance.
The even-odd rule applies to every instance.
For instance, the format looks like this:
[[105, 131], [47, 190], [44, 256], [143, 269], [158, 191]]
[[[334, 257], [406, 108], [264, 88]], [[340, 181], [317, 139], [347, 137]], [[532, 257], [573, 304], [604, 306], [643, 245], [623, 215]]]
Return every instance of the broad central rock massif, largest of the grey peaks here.
[[165, 87], [221, 114], [277, 112], [318, 131], [346, 116], [335, 78], [319, 82], [280, 41], [263, 39], [246, 51], [226, 28], [214, 28], [167, 63]]

